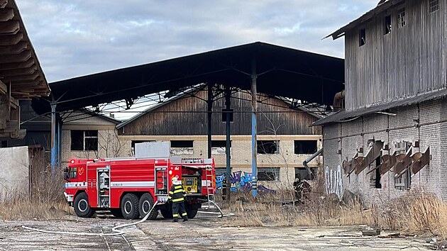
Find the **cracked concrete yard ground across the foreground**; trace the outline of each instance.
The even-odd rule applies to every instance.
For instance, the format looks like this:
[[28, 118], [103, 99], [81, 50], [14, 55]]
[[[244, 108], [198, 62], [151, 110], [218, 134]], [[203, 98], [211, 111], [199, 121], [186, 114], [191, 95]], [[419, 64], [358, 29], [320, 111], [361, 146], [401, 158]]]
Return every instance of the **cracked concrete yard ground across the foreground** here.
[[[111, 233], [123, 219], [67, 217], [50, 221], [0, 221], [0, 250], [429, 250], [424, 238], [377, 238], [363, 227], [224, 227], [199, 214], [185, 223], [159, 218], [123, 228], [113, 237], [38, 233], [22, 225], [53, 231]], [[389, 233], [382, 232], [382, 235]]]

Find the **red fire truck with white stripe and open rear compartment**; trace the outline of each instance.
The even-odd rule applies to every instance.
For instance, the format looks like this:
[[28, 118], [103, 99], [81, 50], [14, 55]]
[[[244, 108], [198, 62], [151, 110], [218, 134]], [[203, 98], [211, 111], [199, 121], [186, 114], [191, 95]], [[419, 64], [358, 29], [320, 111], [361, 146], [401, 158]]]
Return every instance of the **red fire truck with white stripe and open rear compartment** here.
[[116, 158], [71, 160], [65, 168], [65, 198], [79, 217], [109, 210], [116, 217], [144, 217], [153, 207], [150, 219], [172, 218], [167, 202], [172, 177], [182, 180], [187, 191], [185, 206], [189, 218], [207, 200], [214, 200], [216, 189], [213, 159]]

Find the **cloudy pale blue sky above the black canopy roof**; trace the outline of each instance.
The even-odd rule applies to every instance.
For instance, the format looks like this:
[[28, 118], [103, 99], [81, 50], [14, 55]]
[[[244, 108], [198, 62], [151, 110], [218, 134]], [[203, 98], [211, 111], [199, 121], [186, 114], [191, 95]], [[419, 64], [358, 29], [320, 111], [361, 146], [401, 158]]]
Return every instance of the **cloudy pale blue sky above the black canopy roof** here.
[[48, 79], [261, 41], [343, 57], [321, 40], [378, 0], [16, 0]]

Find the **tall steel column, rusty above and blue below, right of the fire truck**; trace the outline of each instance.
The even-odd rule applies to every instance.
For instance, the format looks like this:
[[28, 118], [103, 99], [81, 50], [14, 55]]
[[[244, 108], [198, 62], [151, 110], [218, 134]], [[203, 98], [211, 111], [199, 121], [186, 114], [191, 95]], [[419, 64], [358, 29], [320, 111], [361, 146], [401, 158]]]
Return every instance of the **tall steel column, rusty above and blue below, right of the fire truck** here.
[[258, 127], [256, 125], [256, 114], [258, 111], [258, 104], [256, 103], [256, 96], [258, 96], [258, 91], [256, 91], [256, 79], [258, 79], [258, 74], [256, 73], [256, 59], [253, 58], [251, 62], [251, 172], [252, 172], [252, 193], [256, 197], [258, 195], [258, 165], [257, 165], [257, 150], [256, 145], [256, 134], [258, 133]]

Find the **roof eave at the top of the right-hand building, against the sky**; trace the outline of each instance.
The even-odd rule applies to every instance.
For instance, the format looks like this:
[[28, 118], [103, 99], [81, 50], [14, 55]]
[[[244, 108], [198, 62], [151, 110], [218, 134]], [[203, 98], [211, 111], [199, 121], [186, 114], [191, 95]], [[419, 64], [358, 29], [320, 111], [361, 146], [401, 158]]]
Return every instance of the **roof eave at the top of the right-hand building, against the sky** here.
[[363, 14], [363, 16], [360, 16], [360, 18], [355, 19], [351, 23], [348, 23], [346, 26], [343, 26], [335, 32], [327, 35], [325, 38], [332, 37], [333, 40], [341, 38], [343, 37], [343, 35], [345, 35], [346, 31], [352, 30], [353, 28], [360, 26], [362, 23], [370, 21], [372, 18], [379, 15], [380, 13], [392, 8], [393, 6], [398, 6], [403, 2], [404, 0], [387, 0], [385, 2], [380, 1], [380, 4], [378, 4], [377, 7]]

